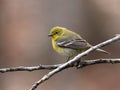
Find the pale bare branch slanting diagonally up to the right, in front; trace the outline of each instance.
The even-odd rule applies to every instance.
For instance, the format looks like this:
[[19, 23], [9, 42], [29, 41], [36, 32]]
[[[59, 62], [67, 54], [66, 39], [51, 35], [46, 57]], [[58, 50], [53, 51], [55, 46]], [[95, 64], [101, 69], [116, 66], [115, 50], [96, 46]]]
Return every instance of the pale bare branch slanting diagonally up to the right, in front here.
[[49, 72], [47, 75], [44, 75], [42, 79], [40, 79], [39, 81], [37, 81], [37, 82], [35, 82], [35, 83], [33, 84], [33, 86], [31, 87], [30, 90], [35, 90], [35, 89], [38, 87], [38, 85], [40, 85], [40, 84], [43, 83], [44, 81], [48, 80], [48, 79], [49, 79], [50, 77], [52, 77], [54, 74], [62, 71], [62, 70], [65, 69], [67, 66], [73, 65], [75, 62], [79, 61], [79, 58], [87, 55], [88, 53], [94, 51], [94, 50], [97, 49], [97, 48], [100, 48], [100, 47], [103, 47], [103, 46], [105, 46], [105, 45], [108, 45], [108, 44], [110, 44], [110, 43], [112, 43], [112, 42], [115, 42], [115, 41], [117, 41], [117, 40], [119, 40], [119, 39], [120, 39], [120, 35], [117, 35], [117, 36], [113, 37], [112, 39], [109, 39], [109, 40], [107, 40], [107, 41], [105, 41], [105, 42], [102, 42], [102, 43], [100, 43], [100, 44], [98, 44], [98, 45], [96, 45], [96, 46], [91, 47], [90, 49], [86, 50], [85, 52], [83, 52], [83, 53], [81, 53], [81, 54], [78, 54], [78, 55], [77, 55], [76, 57], [74, 57], [72, 60], [69, 60], [68, 62], [60, 65], [58, 68], [56, 68], [56, 69], [52, 70], [51, 72]]

